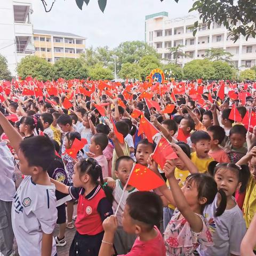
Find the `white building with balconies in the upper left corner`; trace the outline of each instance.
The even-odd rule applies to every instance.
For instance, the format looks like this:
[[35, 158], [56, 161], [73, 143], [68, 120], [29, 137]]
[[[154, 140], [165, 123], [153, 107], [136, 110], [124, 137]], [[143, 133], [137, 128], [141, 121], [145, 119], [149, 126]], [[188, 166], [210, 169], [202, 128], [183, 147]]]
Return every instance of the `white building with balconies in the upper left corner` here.
[[8, 61], [12, 75], [17, 63], [34, 53], [31, 0], [0, 1], [0, 54]]

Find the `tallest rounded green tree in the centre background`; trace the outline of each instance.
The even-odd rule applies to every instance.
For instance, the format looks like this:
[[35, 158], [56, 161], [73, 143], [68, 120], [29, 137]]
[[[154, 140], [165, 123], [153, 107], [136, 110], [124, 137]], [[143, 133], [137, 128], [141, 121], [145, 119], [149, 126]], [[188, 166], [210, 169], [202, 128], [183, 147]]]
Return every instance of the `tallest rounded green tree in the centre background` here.
[[123, 42], [114, 49], [114, 54], [117, 56], [117, 70], [120, 70], [124, 63], [138, 63], [146, 55], [159, 58], [153, 47], [141, 41]]

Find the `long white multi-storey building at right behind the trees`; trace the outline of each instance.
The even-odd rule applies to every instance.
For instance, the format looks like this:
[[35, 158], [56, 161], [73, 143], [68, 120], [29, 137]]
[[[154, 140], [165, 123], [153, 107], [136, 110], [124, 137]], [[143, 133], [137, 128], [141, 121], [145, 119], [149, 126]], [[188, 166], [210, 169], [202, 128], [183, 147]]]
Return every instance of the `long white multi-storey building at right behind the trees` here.
[[229, 36], [229, 31], [223, 26], [213, 22], [208, 29], [202, 22], [198, 24], [195, 37], [193, 29], [198, 15], [189, 15], [182, 18], [169, 18], [167, 12], [160, 12], [146, 16], [145, 42], [153, 46], [158, 53], [162, 54], [164, 62], [174, 61], [175, 55], [170, 54], [170, 47], [183, 45], [182, 52], [186, 56], [178, 56], [178, 64], [204, 59], [206, 49], [224, 49], [233, 54], [232, 62], [241, 70], [256, 65], [256, 38], [249, 37], [247, 41], [240, 36], [234, 43]]

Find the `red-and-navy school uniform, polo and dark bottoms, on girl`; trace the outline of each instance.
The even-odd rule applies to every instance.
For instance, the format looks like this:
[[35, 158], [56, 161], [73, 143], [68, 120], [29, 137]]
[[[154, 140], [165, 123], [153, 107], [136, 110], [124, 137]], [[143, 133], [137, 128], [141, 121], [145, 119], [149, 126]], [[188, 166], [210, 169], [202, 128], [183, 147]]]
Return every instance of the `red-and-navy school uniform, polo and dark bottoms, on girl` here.
[[69, 256], [98, 256], [103, 238], [102, 222], [113, 214], [111, 204], [100, 185], [84, 196], [84, 188], [69, 187], [69, 194], [78, 199], [76, 234]]

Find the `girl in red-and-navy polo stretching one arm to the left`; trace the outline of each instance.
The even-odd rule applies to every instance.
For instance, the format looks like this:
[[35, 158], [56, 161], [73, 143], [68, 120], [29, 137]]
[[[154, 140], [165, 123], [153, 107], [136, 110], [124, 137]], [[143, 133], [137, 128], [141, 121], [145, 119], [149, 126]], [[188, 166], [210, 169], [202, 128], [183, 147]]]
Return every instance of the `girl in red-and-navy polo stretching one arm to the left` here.
[[101, 167], [93, 158], [82, 159], [74, 166], [74, 186], [69, 187], [53, 179], [51, 181], [58, 191], [78, 199], [76, 234], [69, 255], [98, 256], [104, 233], [102, 221], [113, 214], [113, 197], [110, 188], [103, 183]]

